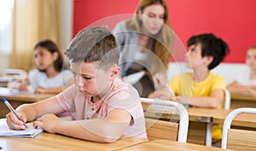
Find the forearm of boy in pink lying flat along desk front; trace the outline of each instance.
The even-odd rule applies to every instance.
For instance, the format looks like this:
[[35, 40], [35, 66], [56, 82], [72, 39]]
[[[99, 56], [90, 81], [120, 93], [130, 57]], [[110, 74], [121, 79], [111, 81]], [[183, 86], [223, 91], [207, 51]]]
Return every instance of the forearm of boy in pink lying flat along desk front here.
[[61, 121], [55, 132], [93, 142], [115, 142], [127, 127], [126, 122], [113, 122], [106, 119]]

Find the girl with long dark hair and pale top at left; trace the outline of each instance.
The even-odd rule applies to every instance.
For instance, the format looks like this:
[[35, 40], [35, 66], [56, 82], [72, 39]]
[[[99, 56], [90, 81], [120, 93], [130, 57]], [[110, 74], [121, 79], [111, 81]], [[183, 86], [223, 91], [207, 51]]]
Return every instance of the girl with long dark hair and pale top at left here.
[[11, 88], [28, 90], [30, 84], [35, 93], [59, 93], [73, 84], [73, 74], [63, 66], [60, 49], [54, 42], [39, 41], [34, 47], [34, 58], [38, 68], [29, 72], [25, 82]]

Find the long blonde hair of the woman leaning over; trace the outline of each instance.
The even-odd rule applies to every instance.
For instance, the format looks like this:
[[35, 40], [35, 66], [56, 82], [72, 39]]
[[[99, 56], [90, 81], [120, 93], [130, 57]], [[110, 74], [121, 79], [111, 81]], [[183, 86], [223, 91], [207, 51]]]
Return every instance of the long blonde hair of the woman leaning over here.
[[139, 19], [139, 11], [142, 11], [150, 5], [160, 4], [165, 9], [164, 26], [162, 26], [160, 32], [154, 37], [153, 52], [160, 58], [160, 61], [167, 68], [170, 61], [173, 47], [173, 32], [169, 23], [168, 9], [165, 0], [141, 0], [137, 6], [136, 15], [131, 20], [126, 21], [126, 27], [128, 30], [135, 30], [142, 32], [142, 21]]

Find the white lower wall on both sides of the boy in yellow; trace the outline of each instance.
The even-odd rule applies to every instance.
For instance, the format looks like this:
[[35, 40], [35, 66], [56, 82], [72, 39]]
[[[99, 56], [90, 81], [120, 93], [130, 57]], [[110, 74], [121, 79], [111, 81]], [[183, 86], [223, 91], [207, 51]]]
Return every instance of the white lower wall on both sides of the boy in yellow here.
[[[230, 84], [236, 78], [236, 75], [248, 72], [248, 67], [243, 63], [221, 63], [218, 67], [212, 69], [211, 73], [217, 73], [225, 78], [226, 84]], [[171, 62], [168, 68], [168, 79], [174, 78], [177, 74], [191, 72], [184, 62]]]

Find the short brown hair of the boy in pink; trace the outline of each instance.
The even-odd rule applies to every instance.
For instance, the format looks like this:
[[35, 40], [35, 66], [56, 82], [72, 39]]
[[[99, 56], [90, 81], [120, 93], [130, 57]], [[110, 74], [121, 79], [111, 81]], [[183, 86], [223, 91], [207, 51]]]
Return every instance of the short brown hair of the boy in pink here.
[[99, 67], [108, 70], [119, 61], [119, 49], [113, 34], [105, 26], [81, 30], [64, 52], [71, 62], [99, 61]]

